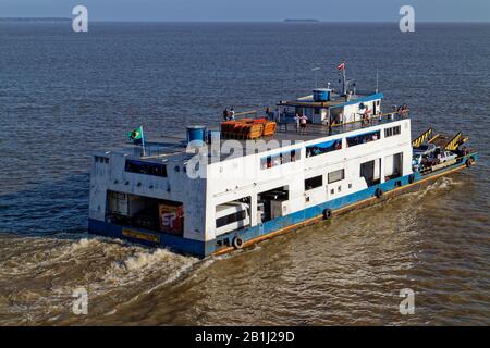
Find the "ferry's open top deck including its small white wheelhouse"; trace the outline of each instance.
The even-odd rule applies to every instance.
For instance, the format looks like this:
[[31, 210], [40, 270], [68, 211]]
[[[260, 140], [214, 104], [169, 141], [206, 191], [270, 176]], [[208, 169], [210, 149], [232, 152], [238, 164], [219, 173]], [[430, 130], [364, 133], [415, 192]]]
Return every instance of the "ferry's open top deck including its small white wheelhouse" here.
[[[342, 67], [342, 70], [340, 67]], [[332, 137], [332, 139], [336, 140], [334, 138], [335, 136], [339, 137], [340, 135], [348, 133], [357, 135], [356, 132], [359, 133], [358, 130], [379, 127], [408, 117], [408, 110], [405, 107], [399, 109], [397, 112], [382, 114], [381, 100], [383, 99], [383, 95], [379, 92], [378, 89], [370, 91], [359, 90], [355, 87], [355, 84], [352, 84], [353, 88], [350, 89], [348, 85], [351, 80], [347, 80], [345, 76], [345, 63], [341, 64], [339, 69], [343, 73], [343, 88], [341, 91], [330, 88], [330, 84], [328, 84], [327, 88], [313, 89], [311, 95], [289, 101], [281, 100], [275, 105], [274, 111], [271, 111], [268, 108], [266, 110], [266, 115], [259, 115], [255, 112], [255, 119], [267, 119], [277, 123], [275, 132], [273, 132], [273, 129], [267, 132], [267, 134], [272, 135], [264, 136], [266, 132], [261, 134], [261, 137], [260, 133], [258, 135], [255, 133], [253, 136], [250, 134], [244, 134], [243, 132], [249, 132], [252, 126], [249, 128], [242, 126], [235, 127], [237, 124], [236, 122], [230, 123], [232, 126], [231, 132], [229, 132], [228, 128], [223, 128], [223, 126], [228, 127], [228, 125], [230, 125], [224, 123], [221, 125], [221, 129], [218, 129], [218, 126], [208, 127], [207, 130], [223, 132], [220, 134], [221, 139], [219, 140], [220, 162], [230, 158], [229, 151], [221, 150], [228, 147], [235, 148], [240, 145], [243, 149], [243, 154], [261, 153], [292, 146], [297, 142], [310, 142], [316, 139], [330, 140], [328, 138]], [[223, 121], [233, 121], [235, 120], [234, 116], [249, 116], [249, 113], [247, 112], [237, 114], [230, 112], [231, 111], [228, 109], [224, 110]], [[296, 122], [299, 124], [299, 119], [304, 121], [305, 117], [307, 119], [306, 127], [301, 127], [301, 129], [298, 129]], [[252, 124], [252, 122], [249, 124]], [[200, 132], [203, 128], [204, 127], [197, 127], [195, 129], [199, 129], [198, 132]], [[187, 130], [189, 128], [187, 128]], [[114, 152], [139, 161], [172, 161], [185, 163], [188, 159], [194, 157], [196, 152], [195, 149], [187, 149], [187, 136], [189, 135], [184, 133], [175, 136], [164, 136], [159, 139], [146, 141], [144, 147], [126, 147]], [[225, 136], [233, 139], [228, 139]], [[256, 138], [257, 136], [259, 136], [259, 138]], [[199, 139], [204, 140], [204, 134], [199, 136]], [[208, 156], [210, 157], [217, 153], [216, 138], [217, 137], [213, 139], [212, 146], [208, 145], [207, 148]], [[255, 140], [244, 140], [246, 138], [254, 138]], [[194, 137], [189, 136], [189, 139], [194, 139]], [[232, 141], [228, 142], [228, 140]], [[264, 142], [259, 142], [260, 140], [266, 142], [266, 146]], [[203, 149], [204, 147], [200, 148]], [[235, 154], [234, 151], [233, 154]]]

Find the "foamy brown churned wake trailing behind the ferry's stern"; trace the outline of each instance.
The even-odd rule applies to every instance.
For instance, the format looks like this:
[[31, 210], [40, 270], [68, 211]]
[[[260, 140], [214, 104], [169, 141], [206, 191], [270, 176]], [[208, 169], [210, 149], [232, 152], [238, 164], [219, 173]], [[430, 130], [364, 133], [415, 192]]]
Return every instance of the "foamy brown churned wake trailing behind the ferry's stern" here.
[[0, 252], [2, 325], [70, 323], [77, 319], [72, 306], [81, 288], [87, 291], [91, 319], [115, 312], [142, 294], [184, 278], [199, 263], [166, 249], [73, 234], [2, 238]]

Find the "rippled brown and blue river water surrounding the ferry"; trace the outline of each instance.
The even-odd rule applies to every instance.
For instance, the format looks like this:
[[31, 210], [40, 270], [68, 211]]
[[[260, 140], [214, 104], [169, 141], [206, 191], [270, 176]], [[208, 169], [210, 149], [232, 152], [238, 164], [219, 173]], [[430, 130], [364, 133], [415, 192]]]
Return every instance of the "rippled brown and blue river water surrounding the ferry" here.
[[[490, 25], [0, 23], [1, 325], [489, 325]], [[87, 235], [90, 154], [338, 83], [480, 161], [418, 192], [198, 260]], [[72, 312], [88, 291], [88, 314]], [[415, 291], [402, 315], [400, 291]]]

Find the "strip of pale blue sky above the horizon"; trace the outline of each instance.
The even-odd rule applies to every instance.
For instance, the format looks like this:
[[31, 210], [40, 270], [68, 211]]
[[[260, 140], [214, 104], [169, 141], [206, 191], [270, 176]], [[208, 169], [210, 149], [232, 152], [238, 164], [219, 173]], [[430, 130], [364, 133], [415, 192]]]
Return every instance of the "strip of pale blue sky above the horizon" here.
[[0, 17], [71, 17], [76, 4], [93, 21], [395, 22], [411, 4], [417, 21], [490, 22], [490, 0], [0, 0]]

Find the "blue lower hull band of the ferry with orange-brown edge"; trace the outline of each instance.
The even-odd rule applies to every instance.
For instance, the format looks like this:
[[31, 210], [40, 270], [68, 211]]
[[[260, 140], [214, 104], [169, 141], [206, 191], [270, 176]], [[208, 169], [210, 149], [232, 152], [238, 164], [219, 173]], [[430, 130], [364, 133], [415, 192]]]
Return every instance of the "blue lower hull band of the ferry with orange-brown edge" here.
[[198, 241], [171, 234], [156, 233], [154, 231], [119, 225], [112, 222], [89, 220], [89, 233], [128, 239], [149, 246], [168, 247], [175, 251], [198, 257], [221, 254], [231, 252], [236, 248], [236, 240], [242, 246], [253, 245], [262, 239], [271, 238], [294, 228], [328, 220], [334, 214], [340, 214], [358, 207], [373, 204], [387, 197], [399, 195], [409, 190], [419, 189], [437, 178], [452, 172], [462, 170], [477, 160], [476, 153], [463, 156], [456, 163], [434, 172], [418, 173], [396, 177], [384, 183], [379, 183], [367, 189], [333, 199], [315, 207], [307, 208], [295, 213], [272, 219], [253, 227], [241, 228], [219, 236], [209, 241]]

